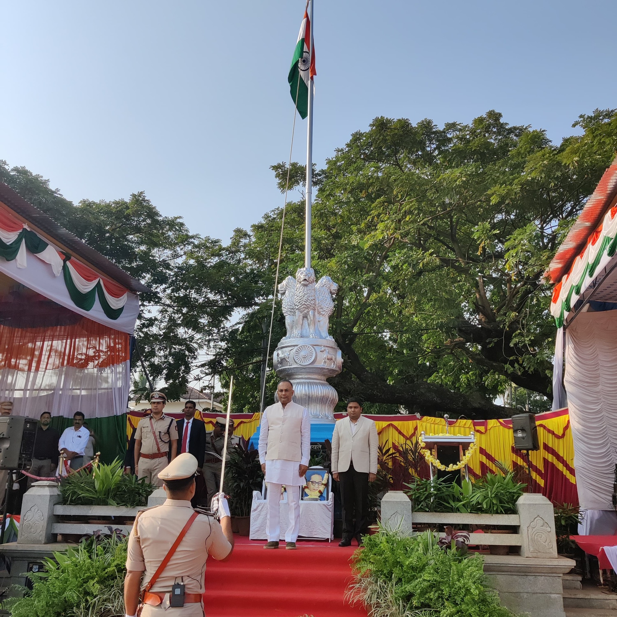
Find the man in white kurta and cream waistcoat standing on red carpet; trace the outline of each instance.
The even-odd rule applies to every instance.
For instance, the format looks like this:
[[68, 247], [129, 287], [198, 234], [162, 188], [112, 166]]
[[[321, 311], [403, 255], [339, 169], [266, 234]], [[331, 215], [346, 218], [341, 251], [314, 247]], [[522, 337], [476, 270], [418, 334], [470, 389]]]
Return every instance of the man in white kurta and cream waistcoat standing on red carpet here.
[[281, 488], [287, 491], [289, 521], [286, 549], [295, 549], [300, 531], [300, 489], [309, 468], [309, 410], [292, 402], [294, 387], [283, 380], [276, 387], [279, 402], [265, 408], [259, 433], [259, 462], [268, 484], [268, 518], [265, 549], [278, 549], [281, 534], [279, 506]]

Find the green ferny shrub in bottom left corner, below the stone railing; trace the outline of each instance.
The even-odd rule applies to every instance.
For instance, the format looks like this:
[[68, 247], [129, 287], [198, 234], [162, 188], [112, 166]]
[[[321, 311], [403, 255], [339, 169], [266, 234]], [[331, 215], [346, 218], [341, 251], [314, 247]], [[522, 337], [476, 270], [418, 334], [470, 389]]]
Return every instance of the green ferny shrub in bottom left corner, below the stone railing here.
[[47, 572], [30, 573], [33, 589], [2, 603], [12, 617], [117, 617], [124, 615], [126, 539], [90, 538], [46, 559]]

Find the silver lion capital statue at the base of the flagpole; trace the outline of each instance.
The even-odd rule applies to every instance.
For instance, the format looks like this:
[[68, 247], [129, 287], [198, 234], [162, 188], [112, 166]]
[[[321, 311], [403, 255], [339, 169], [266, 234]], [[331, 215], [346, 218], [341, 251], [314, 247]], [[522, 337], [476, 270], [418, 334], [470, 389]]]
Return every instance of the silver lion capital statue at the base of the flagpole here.
[[294, 384], [294, 400], [309, 409], [311, 420], [333, 422], [336, 390], [326, 378], [341, 372], [342, 357], [328, 334], [329, 317], [339, 286], [329, 276], [315, 284], [313, 268], [299, 268], [279, 286], [287, 336], [274, 353], [274, 368]]

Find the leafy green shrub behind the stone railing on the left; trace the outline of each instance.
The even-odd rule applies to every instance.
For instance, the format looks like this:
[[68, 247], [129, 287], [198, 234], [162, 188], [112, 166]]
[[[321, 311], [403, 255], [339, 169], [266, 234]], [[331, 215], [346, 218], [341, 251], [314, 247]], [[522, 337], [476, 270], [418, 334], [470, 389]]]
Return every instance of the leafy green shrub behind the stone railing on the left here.
[[116, 459], [111, 465], [99, 463], [92, 471], [81, 470], [60, 483], [64, 505], [114, 505], [136, 507], [146, 505], [156, 487], [145, 478], [123, 473]]

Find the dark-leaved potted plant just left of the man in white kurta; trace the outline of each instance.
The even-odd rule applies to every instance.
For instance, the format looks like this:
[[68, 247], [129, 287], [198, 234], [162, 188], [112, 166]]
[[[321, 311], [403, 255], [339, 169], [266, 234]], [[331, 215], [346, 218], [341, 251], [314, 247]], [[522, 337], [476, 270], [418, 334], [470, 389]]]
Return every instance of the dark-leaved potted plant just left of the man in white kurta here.
[[248, 536], [251, 531], [251, 503], [253, 491], [261, 491], [263, 473], [259, 452], [246, 439], [241, 439], [230, 451], [225, 465], [226, 487], [230, 495], [230, 509], [236, 517], [238, 532]]

